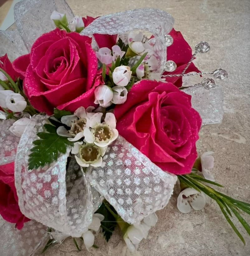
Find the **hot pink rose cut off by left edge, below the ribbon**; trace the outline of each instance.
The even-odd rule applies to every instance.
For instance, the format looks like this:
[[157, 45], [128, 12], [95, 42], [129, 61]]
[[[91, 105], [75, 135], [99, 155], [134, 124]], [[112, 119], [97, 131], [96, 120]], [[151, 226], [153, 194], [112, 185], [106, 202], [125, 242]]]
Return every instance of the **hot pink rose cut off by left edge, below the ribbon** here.
[[6, 221], [16, 223], [18, 229], [30, 220], [22, 214], [18, 206], [14, 162], [0, 166], [0, 214]]

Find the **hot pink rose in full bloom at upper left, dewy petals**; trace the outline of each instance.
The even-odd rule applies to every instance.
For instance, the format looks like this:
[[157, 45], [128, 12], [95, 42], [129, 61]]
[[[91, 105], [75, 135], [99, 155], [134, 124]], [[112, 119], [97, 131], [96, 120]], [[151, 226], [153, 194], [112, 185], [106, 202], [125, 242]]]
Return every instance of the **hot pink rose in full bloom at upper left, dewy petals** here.
[[74, 112], [94, 105], [94, 89], [103, 80], [91, 41], [57, 28], [39, 37], [30, 54], [14, 61], [25, 76], [24, 92], [34, 108], [50, 115], [55, 107]]

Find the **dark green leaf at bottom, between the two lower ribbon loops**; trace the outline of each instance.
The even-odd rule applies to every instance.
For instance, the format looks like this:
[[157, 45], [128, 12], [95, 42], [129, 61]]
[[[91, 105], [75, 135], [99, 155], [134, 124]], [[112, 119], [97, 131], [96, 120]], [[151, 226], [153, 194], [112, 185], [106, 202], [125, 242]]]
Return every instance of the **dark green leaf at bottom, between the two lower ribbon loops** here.
[[[109, 207], [107, 208], [106, 207], [107, 202], [104, 202], [104, 201], [103, 201], [102, 205], [99, 207], [99, 209], [96, 211], [96, 213], [100, 213], [104, 216], [103, 221], [101, 221], [101, 228], [103, 231], [103, 235], [104, 235], [106, 241], [108, 242], [108, 240], [110, 239], [110, 237], [113, 234], [115, 227], [117, 226], [116, 218], [108, 210], [108, 208], [113, 213], [115, 213], [116, 211], [111, 205], [109, 205]], [[106, 203], [106, 205], [105, 205], [105, 203]]]

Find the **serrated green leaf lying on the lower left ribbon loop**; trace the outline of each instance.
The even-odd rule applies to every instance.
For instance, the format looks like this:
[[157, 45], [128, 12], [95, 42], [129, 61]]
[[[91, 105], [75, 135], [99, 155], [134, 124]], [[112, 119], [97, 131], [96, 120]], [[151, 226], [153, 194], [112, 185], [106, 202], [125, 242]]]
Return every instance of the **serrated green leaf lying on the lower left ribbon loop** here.
[[67, 146], [72, 146], [73, 142], [56, 133], [54, 125], [45, 124], [47, 132], [38, 132], [40, 139], [33, 141], [34, 147], [29, 155], [29, 170], [37, 169], [56, 161], [60, 153], [65, 154]]

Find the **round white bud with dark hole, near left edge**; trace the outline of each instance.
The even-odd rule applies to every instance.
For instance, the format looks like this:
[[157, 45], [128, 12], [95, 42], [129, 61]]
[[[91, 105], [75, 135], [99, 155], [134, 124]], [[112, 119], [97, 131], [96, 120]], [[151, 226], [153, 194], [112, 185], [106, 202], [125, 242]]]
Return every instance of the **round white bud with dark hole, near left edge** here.
[[27, 102], [24, 97], [19, 93], [7, 95], [6, 106], [13, 112], [22, 112], [26, 108]]

